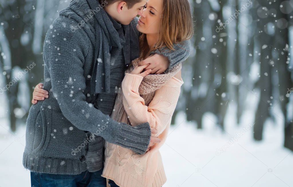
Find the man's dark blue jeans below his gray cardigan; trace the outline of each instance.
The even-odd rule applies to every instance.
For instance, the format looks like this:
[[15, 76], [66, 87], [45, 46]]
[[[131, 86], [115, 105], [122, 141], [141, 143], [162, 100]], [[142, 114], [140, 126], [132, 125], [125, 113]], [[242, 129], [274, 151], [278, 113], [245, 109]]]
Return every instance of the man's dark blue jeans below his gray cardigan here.
[[105, 187], [101, 176], [103, 168], [96, 172], [84, 171], [78, 175], [60, 175], [30, 172], [32, 187]]

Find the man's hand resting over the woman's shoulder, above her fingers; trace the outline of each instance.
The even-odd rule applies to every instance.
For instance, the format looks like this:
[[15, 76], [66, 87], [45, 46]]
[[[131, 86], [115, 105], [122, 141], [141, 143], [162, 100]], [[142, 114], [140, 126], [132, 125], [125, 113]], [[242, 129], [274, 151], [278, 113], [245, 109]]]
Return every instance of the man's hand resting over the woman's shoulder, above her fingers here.
[[168, 69], [169, 63], [168, 57], [160, 54], [154, 54], [139, 62], [138, 66], [149, 64], [149, 66], [144, 68], [145, 71], [151, 69], [151, 74], [161, 74]]

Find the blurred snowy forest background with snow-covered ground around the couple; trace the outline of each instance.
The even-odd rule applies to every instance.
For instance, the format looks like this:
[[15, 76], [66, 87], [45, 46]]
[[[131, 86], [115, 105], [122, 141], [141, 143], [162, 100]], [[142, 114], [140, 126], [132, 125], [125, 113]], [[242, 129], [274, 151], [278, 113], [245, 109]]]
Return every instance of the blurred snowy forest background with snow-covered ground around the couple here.
[[[0, 0], [1, 187], [30, 186], [25, 121], [45, 34], [69, 3]], [[293, 0], [190, 5], [193, 49], [161, 150], [164, 186], [293, 186]]]

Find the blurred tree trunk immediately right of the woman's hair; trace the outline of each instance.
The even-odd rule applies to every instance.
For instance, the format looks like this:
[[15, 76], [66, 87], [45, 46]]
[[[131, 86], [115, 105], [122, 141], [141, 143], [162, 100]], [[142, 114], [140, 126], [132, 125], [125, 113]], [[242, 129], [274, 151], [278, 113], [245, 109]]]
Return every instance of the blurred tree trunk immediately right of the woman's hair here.
[[[197, 4], [194, 1], [194, 15], [197, 20], [194, 44], [196, 55], [191, 64], [193, 71], [192, 85], [190, 85], [190, 90], [185, 91], [184, 96], [186, 98], [187, 120], [196, 121], [197, 128], [202, 128], [202, 116], [205, 111], [209, 109], [205, 106], [205, 103], [208, 101], [208, 96], [211, 97], [211, 95], [200, 93], [201, 89], [205, 89], [201, 86], [206, 85], [209, 88], [209, 90], [206, 90], [206, 93], [211, 93], [211, 86], [209, 85], [212, 84], [213, 80], [213, 74], [208, 73], [208, 70], [205, 67], [208, 66], [208, 68], [212, 69], [212, 66], [209, 65], [211, 58], [207, 56], [207, 54], [210, 54], [210, 46], [207, 45], [205, 40], [202, 41], [202, 37], [205, 36], [204, 29], [206, 28], [203, 23], [207, 24], [207, 22], [209, 22], [209, 12], [209, 3], [207, 1], [202, 1], [200, 4]], [[212, 36], [207, 37], [210, 38]], [[206, 38], [206, 40], [209, 38]]]

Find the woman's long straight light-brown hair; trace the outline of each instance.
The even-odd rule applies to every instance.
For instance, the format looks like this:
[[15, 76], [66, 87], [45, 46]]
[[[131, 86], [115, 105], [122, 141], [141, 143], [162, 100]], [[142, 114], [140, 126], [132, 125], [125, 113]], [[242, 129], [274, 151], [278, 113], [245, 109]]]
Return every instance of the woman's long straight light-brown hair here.
[[[193, 36], [193, 20], [188, 0], [163, 0], [163, 15], [160, 16], [159, 37], [154, 47], [167, 47], [175, 50], [173, 44], [189, 40]], [[140, 58], [144, 58], [150, 49], [146, 34], [139, 37]]]

